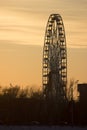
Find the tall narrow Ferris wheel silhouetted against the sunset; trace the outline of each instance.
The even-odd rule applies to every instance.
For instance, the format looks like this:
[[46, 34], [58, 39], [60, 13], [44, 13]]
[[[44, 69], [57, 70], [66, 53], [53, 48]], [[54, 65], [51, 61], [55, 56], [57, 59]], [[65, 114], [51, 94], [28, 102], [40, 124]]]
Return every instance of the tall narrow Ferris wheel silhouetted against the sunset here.
[[43, 47], [43, 90], [46, 96], [64, 99], [67, 84], [67, 50], [62, 17], [51, 14]]

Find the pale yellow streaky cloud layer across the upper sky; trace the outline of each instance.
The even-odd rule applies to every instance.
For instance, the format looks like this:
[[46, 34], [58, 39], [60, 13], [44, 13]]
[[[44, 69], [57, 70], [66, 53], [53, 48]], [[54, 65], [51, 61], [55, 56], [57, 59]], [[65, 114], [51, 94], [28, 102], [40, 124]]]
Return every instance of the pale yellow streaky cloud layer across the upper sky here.
[[[86, 44], [87, 0], [0, 0], [0, 6], [1, 40], [3, 40], [2, 38], [12, 40], [7, 38], [12, 33], [13, 40], [20, 40], [22, 37], [22, 40], [29, 44], [43, 45], [49, 15], [60, 13], [64, 20], [68, 41], [74, 44], [81, 42], [82, 44], [83, 40], [81, 39], [85, 39], [84, 44]], [[19, 34], [19, 38], [15, 32], [17, 35]], [[75, 39], [73, 40], [74, 36], [82, 38], [80, 41], [79, 39], [75, 41]]]

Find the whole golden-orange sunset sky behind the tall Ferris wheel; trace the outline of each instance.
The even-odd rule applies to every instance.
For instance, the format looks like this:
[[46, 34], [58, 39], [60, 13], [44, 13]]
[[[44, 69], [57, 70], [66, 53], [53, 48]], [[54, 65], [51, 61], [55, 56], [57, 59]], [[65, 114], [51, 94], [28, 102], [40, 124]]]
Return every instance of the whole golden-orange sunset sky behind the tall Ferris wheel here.
[[41, 86], [42, 47], [52, 13], [64, 22], [68, 77], [87, 82], [87, 0], [0, 0], [0, 85]]

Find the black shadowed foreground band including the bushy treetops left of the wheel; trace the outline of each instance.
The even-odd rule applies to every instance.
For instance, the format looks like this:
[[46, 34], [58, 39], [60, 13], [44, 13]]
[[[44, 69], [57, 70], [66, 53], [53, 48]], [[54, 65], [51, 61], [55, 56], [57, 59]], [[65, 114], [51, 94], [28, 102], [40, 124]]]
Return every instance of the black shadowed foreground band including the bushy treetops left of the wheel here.
[[41, 92], [29, 95], [27, 90], [19, 90], [11, 86], [2, 91], [0, 125], [87, 126], [86, 101], [58, 102], [55, 98], [44, 98]]

